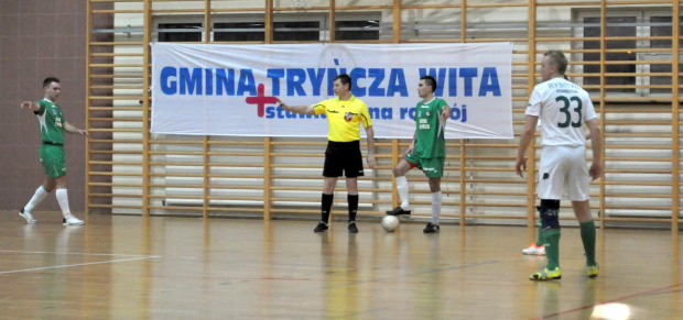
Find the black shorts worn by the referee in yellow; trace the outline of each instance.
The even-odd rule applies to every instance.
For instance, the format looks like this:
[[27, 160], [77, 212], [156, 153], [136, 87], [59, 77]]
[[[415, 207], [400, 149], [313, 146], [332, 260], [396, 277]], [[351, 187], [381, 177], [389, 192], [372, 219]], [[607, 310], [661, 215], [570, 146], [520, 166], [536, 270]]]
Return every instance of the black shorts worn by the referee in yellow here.
[[327, 142], [325, 151], [324, 177], [347, 178], [362, 177], [362, 155], [360, 154], [360, 141]]

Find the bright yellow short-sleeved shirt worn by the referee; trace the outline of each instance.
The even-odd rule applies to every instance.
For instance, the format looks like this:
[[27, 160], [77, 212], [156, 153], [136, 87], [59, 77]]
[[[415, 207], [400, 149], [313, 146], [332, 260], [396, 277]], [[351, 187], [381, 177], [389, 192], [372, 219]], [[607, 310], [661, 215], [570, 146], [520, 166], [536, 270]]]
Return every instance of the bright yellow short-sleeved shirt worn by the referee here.
[[368, 106], [351, 95], [348, 100], [339, 97], [321, 101], [313, 106], [315, 114], [325, 113], [329, 124], [327, 139], [334, 142], [350, 142], [360, 140], [360, 125], [372, 125]]

